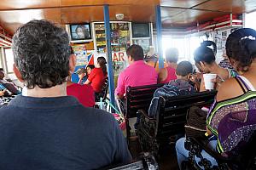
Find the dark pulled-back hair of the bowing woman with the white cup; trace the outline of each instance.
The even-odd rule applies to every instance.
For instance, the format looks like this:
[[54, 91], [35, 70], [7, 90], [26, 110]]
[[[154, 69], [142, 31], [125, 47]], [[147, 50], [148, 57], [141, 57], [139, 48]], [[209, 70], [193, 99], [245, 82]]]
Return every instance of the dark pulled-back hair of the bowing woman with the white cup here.
[[200, 63], [201, 61], [211, 65], [215, 61], [215, 55], [211, 48], [203, 45], [195, 49], [194, 59], [195, 63]]

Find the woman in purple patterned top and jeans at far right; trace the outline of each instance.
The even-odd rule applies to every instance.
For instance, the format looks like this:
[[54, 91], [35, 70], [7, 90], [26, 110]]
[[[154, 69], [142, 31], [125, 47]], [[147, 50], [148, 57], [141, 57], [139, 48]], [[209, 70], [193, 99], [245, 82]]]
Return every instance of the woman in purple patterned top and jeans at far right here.
[[[210, 141], [209, 145], [222, 156], [236, 157], [256, 130], [255, 37], [256, 31], [242, 28], [233, 31], [227, 38], [226, 49], [230, 64], [242, 74], [222, 83], [207, 116], [207, 133], [217, 138]], [[184, 138], [179, 139], [176, 144], [180, 168], [182, 161], [188, 160], [189, 156], [184, 141]], [[212, 166], [217, 164], [205, 150], [202, 150], [201, 155], [211, 161]]]

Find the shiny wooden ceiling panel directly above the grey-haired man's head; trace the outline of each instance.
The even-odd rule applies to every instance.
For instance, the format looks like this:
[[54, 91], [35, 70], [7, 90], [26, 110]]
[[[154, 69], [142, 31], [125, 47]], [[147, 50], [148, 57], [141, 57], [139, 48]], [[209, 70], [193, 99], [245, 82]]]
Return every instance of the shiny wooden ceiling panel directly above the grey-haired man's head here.
[[0, 11], [0, 25], [11, 34], [14, 33], [19, 26], [33, 19], [47, 19], [55, 23], [61, 23], [61, 10], [50, 8]]

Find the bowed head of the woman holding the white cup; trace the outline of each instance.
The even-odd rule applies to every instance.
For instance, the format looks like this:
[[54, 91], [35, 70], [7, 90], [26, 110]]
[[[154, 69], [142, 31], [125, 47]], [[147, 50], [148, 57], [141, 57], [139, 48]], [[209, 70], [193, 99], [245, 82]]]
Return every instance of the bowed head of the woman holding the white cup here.
[[215, 55], [212, 48], [200, 46], [194, 52], [195, 65], [199, 71], [209, 73], [209, 67], [215, 63]]

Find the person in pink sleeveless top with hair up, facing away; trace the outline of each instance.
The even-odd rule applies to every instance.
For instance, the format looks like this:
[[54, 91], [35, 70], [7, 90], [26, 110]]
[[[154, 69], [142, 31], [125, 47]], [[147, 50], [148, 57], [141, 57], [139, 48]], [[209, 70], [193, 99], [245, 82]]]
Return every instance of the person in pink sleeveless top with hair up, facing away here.
[[158, 82], [166, 83], [177, 79], [175, 70], [177, 67], [178, 51], [177, 48], [169, 48], [166, 50], [166, 68], [162, 68], [158, 75]]

